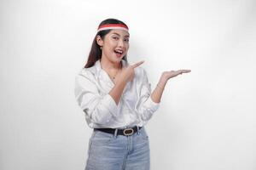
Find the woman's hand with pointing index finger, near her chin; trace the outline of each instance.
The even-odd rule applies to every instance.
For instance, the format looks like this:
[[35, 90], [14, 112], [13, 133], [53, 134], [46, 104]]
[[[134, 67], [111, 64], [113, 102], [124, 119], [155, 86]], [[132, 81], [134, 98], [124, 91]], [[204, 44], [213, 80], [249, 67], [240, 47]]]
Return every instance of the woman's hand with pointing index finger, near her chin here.
[[127, 67], [123, 67], [122, 71], [119, 74], [119, 78], [124, 80], [125, 82], [132, 81], [134, 77], [134, 69], [139, 65], [142, 65], [144, 61], [137, 62], [133, 65], [128, 65]]

